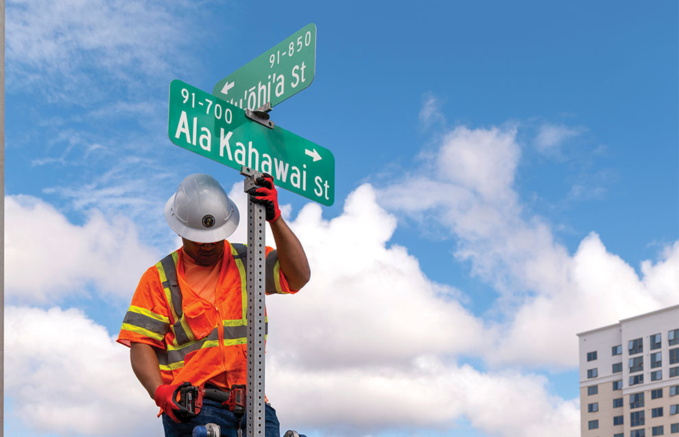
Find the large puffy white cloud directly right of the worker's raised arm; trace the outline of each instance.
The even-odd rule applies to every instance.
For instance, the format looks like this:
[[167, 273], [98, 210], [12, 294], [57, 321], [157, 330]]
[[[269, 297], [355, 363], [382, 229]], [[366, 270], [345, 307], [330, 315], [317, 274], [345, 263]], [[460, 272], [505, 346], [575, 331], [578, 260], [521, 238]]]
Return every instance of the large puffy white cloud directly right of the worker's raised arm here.
[[[395, 227], [369, 185], [331, 221], [318, 205], [302, 209], [291, 228], [304, 242], [311, 281], [299, 295], [268, 299], [272, 332], [283, 344], [303, 345], [281, 350], [286, 360], [302, 369], [399, 366], [421, 354], [481, 347], [482, 325], [452, 297], [455, 290], [427, 279], [404, 247], [388, 247]], [[289, 323], [302, 314], [305, 329]]]

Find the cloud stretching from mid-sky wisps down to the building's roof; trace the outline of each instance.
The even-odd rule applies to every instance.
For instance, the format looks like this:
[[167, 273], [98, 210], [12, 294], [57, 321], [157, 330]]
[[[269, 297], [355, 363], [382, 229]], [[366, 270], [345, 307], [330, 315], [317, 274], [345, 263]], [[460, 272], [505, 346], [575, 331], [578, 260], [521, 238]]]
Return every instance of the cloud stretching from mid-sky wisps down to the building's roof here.
[[505, 336], [488, 362], [575, 366], [575, 333], [676, 304], [678, 245], [643, 262], [641, 277], [596, 234], [569, 254], [545, 219], [525, 217], [513, 187], [518, 159], [515, 130], [457, 127], [425, 162], [438, 171], [406, 175], [380, 199], [423, 227], [446, 229], [455, 258], [501, 293], [495, 309], [503, 316], [487, 324]]

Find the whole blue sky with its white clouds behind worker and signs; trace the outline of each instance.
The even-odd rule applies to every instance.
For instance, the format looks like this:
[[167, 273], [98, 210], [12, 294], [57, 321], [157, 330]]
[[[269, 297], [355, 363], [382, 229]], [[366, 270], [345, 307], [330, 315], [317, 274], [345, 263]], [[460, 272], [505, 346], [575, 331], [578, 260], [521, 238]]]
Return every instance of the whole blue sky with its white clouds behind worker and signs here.
[[308, 23], [313, 84], [271, 117], [333, 151], [335, 203], [279, 191], [312, 269], [267, 301], [283, 426], [576, 435], [575, 334], [679, 300], [678, 14], [8, 1], [5, 435], [161, 435], [113, 340], [178, 245], [163, 207], [181, 179], [245, 202], [236, 171], [167, 138], [169, 83], [209, 92]]

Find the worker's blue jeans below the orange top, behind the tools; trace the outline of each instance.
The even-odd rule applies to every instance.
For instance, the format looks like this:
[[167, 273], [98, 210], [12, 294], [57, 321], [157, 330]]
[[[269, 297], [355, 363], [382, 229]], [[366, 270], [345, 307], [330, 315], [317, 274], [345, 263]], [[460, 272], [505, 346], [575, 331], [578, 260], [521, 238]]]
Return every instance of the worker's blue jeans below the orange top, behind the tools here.
[[[163, 413], [165, 437], [191, 437], [193, 436], [194, 427], [206, 425], [207, 423], [219, 425], [222, 429], [223, 437], [237, 437], [238, 422], [236, 416], [230, 412], [228, 408], [222, 407], [221, 403], [213, 401], [212, 399], [203, 399], [203, 408], [200, 410], [200, 414], [193, 417], [193, 419], [187, 423], [176, 423], [170, 419], [167, 414]], [[247, 423], [246, 417], [243, 417], [241, 421], [243, 436], [248, 435]], [[279, 427], [280, 425], [278, 424], [278, 417], [276, 417], [276, 410], [274, 410], [271, 405], [267, 404], [264, 410], [265, 437], [281, 437], [281, 430]]]

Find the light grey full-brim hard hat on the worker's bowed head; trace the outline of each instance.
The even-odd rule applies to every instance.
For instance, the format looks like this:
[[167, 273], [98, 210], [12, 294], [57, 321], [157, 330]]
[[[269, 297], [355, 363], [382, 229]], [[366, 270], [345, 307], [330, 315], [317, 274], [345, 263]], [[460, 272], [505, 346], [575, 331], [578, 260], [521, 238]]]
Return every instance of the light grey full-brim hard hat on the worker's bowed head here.
[[215, 242], [238, 227], [238, 208], [210, 175], [184, 178], [165, 204], [165, 220], [174, 232], [195, 242]]

